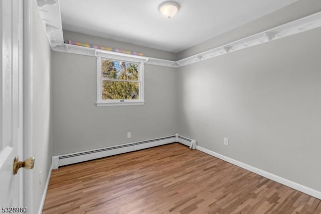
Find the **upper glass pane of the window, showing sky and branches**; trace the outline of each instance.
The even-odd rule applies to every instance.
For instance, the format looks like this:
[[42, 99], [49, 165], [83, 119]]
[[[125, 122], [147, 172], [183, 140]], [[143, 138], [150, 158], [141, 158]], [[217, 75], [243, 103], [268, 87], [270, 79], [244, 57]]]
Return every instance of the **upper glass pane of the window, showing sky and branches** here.
[[139, 64], [101, 60], [101, 76], [109, 79], [138, 80]]

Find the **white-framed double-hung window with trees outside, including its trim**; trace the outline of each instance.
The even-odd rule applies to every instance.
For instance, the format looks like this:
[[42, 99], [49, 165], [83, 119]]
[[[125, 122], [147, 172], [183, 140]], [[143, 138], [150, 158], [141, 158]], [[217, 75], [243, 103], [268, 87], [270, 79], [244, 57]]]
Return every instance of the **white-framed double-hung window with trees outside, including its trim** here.
[[97, 106], [144, 104], [146, 57], [96, 51]]

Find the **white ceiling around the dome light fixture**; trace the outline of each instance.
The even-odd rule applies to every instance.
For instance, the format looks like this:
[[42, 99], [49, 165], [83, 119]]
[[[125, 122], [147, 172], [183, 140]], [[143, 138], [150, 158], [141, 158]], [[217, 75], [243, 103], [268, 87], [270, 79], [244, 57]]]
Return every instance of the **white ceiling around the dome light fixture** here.
[[60, 0], [63, 29], [177, 53], [298, 0], [176, 0], [170, 20], [164, 1]]

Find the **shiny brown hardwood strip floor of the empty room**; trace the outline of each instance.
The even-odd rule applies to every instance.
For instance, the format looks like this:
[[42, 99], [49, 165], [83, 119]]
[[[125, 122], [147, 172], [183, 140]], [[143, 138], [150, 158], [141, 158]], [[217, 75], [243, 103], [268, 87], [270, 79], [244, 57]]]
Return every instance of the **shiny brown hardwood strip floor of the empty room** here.
[[43, 213], [320, 213], [320, 200], [174, 143], [52, 172]]

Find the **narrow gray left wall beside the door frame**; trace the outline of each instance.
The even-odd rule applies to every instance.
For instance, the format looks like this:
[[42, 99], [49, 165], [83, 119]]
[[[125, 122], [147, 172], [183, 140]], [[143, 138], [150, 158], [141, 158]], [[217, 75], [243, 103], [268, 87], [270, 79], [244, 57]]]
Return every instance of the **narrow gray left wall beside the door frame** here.
[[[45, 189], [52, 157], [51, 110], [51, 49], [39, 14], [33, 4], [32, 29], [32, 153], [35, 167], [32, 170], [34, 213], [38, 212]], [[42, 181], [39, 184], [39, 173]]]

